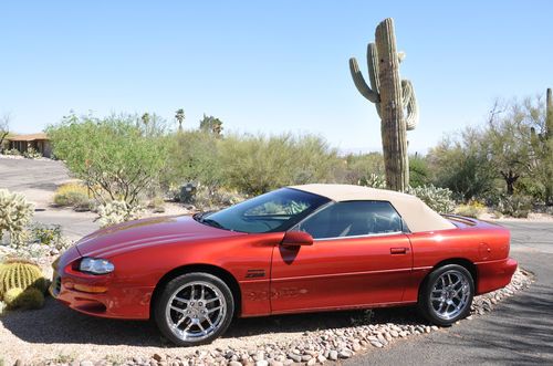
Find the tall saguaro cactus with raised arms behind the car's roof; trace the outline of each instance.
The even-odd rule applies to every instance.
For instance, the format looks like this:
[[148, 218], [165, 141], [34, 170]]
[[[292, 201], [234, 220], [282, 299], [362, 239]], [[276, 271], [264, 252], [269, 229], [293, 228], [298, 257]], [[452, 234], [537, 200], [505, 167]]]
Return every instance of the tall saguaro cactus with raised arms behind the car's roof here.
[[357, 60], [349, 59], [349, 71], [359, 93], [376, 106], [380, 116], [380, 134], [387, 187], [404, 191], [409, 186], [407, 130], [418, 123], [418, 106], [413, 84], [400, 80], [399, 63], [405, 57], [396, 49], [394, 20], [385, 19], [376, 27], [375, 43], [367, 46], [371, 86], [359, 71]]

